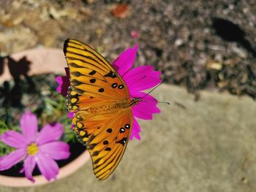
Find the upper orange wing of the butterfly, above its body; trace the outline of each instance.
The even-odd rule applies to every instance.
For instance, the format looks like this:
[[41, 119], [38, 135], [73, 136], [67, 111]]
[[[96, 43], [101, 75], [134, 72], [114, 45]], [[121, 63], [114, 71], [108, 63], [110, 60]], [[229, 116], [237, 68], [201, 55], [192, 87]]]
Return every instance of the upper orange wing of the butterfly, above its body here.
[[67, 39], [64, 54], [70, 73], [69, 111], [129, 99], [124, 80], [96, 50], [78, 40]]

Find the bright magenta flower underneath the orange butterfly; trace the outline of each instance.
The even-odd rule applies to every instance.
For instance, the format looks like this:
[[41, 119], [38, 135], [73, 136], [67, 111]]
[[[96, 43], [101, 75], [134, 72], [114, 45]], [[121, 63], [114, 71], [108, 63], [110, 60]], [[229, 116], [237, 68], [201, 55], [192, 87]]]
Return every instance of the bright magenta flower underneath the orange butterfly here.
[[[124, 79], [126, 82], [129, 90], [129, 94], [132, 98], [143, 98], [138, 105], [134, 105], [132, 107], [132, 113], [134, 115], [133, 118], [133, 125], [132, 125], [132, 132], [129, 139], [136, 139], [140, 140], [140, 125], [136, 118], [144, 119], [144, 120], [151, 120], [153, 118], [154, 113], [159, 113], [160, 110], [157, 107], [157, 99], [154, 99], [153, 96], [147, 95], [143, 93], [143, 90], [148, 88], [153, 88], [154, 86], [158, 85], [162, 80], [160, 79], [161, 72], [154, 71], [153, 66], [138, 66], [132, 69], [132, 65], [136, 59], [136, 53], [138, 50], [138, 45], [134, 48], [128, 48], [125, 50], [121, 55], [113, 61], [112, 65]], [[68, 68], [65, 68], [66, 73]], [[65, 77], [57, 77], [59, 82], [59, 89], [57, 91], [59, 93], [64, 93], [62, 95], [67, 96], [67, 89], [69, 87], [69, 73]], [[56, 78], [56, 79], [57, 79]], [[67, 80], [68, 78], [68, 80]], [[65, 80], [65, 81], [61, 81]], [[65, 84], [67, 83], [67, 84]], [[73, 116], [69, 114], [69, 116]]]

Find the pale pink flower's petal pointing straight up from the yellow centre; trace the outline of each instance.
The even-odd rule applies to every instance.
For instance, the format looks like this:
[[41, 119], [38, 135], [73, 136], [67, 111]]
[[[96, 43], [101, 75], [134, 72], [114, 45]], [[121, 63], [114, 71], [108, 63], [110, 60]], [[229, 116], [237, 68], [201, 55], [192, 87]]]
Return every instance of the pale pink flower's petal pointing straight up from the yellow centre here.
[[37, 116], [31, 112], [25, 112], [20, 118], [20, 129], [28, 142], [34, 142], [37, 136]]

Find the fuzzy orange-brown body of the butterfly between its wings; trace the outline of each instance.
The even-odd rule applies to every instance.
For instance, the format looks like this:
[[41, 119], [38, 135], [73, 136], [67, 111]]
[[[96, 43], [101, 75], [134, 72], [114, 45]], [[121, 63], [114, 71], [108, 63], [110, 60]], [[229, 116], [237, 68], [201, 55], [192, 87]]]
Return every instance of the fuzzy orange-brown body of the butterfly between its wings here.
[[120, 112], [121, 110], [127, 110], [128, 107], [131, 107], [131, 100], [127, 99], [126, 101], [119, 101], [113, 104], [105, 104], [94, 107], [89, 107], [86, 112], [89, 114], [106, 114], [112, 112]]

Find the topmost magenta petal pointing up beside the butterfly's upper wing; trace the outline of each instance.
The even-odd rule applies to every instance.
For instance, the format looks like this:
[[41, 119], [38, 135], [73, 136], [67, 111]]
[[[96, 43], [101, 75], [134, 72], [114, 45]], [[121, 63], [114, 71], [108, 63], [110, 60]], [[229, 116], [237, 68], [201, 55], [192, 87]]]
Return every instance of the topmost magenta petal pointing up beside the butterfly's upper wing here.
[[135, 45], [133, 48], [128, 48], [123, 53], [121, 53], [115, 61], [113, 61], [113, 67], [118, 71], [118, 74], [123, 76], [129, 69], [132, 68], [132, 65], [136, 59], [136, 53], [138, 50], [138, 45]]

